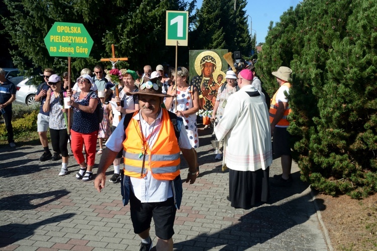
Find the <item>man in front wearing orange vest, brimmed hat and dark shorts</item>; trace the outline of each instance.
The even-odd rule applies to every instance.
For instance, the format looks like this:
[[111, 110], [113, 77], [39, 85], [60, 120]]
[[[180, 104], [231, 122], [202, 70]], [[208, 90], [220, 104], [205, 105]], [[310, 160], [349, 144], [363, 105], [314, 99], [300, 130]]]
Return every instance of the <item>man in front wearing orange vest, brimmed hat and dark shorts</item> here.
[[123, 202], [126, 205], [130, 201], [134, 232], [142, 238], [140, 250], [153, 246], [149, 236], [152, 217], [158, 238], [156, 249], [173, 250], [174, 218], [182, 196], [179, 153], [189, 164], [186, 183], [190, 184], [196, 180], [195, 154], [183, 121], [161, 108], [167, 95], [162, 94], [159, 80], [152, 82], [144, 77], [139, 91], [127, 94], [139, 96], [140, 110], [132, 114], [125, 128], [124, 121], [130, 116], [126, 115], [106, 142], [95, 188], [101, 192], [105, 187], [106, 170], [123, 148]]

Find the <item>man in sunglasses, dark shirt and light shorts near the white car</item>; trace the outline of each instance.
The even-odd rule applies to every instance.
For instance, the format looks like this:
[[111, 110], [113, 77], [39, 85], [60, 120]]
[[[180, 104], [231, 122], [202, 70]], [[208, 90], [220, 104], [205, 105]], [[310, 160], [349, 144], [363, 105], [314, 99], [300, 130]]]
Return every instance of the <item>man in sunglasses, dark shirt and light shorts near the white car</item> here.
[[55, 71], [51, 68], [46, 68], [43, 71], [43, 80], [38, 88], [37, 93], [35, 95], [35, 101], [40, 101], [41, 106], [39, 107], [39, 114], [37, 119], [37, 131], [39, 134], [39, 140], [41, 141], [42, 147], [43, 147], [43, 154], [39, 158], [40, 161], [46, 161], [52, 157], [52, 154], [50, 152], [50, 149], [48, 148], [48, 139], [47, 139], [47, 129], [48, 129], [48, 122], [49, 122], [49, 116], [50, 112], [43, 112], [43, 104], [46, 101], [47, 91], [50, 89], [50, 86], [48, 84], [48, 78], [55, 74]]

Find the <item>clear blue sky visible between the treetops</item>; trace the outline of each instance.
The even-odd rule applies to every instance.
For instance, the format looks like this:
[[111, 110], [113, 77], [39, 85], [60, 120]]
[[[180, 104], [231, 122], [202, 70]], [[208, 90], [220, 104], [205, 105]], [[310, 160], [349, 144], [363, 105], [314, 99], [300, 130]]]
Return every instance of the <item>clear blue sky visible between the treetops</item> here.
[[[233, 1], [234, 0], [219, 0], [219, 1]], [[252, 20], [252, 35], [256, 33], [257, 44], [264, 42], [267, 36], [267, 30], [270, 21], [273, 24], [280, 21], [280, 16], [287, 11], [291, 6], [295, 9], [302, 0], [248, 0], [245, 8], [246, 14]], [[200, 9], [203, 0], [198, 0], [197, 8]], [[250, 29], [250, 17], [247, 18], [247, 23]]]

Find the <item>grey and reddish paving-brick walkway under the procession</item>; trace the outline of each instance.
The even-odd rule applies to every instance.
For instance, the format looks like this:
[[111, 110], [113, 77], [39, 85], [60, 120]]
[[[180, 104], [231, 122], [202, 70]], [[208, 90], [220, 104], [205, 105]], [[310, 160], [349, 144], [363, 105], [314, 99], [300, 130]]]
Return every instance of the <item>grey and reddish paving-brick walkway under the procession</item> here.
[[[211, 132], [200, 134], [201, 175], [194, 185], [183, 185], [174, 250], [331, 249], [297, 164], [293, 186], [271, 187], [270, 204], [234, 209], [226, 199], [228, 173], [215, 159]], [[98, 193], [92, 182], [75, 179], [78, 165], [73, 157], [68, 175], [58, 177], [61, 160], [40, 162], [41, 154], [40, 145], [0, 146], [0, 250], [139, 250], [119, 183], [108, 182]], [[185, 178], [184, 160], [181, 166]], [[112, 172], [110, 167], [109, 179]], [[270, 177], [279, 173], [280, 159], [275, 159]], [[154, 226], [151, 237], [156, 243]]]

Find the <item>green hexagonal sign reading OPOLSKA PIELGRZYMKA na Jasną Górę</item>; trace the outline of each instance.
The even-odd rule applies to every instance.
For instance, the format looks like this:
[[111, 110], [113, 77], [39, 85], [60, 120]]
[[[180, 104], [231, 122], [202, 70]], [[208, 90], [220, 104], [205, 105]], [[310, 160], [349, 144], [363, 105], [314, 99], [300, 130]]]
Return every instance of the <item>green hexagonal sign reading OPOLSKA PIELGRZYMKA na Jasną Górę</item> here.
[[45, 37], [50, 56], [89, 57], [93, 40], [83, 24], [55, 22]]

